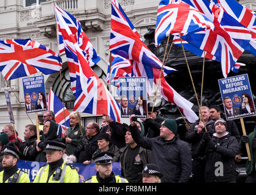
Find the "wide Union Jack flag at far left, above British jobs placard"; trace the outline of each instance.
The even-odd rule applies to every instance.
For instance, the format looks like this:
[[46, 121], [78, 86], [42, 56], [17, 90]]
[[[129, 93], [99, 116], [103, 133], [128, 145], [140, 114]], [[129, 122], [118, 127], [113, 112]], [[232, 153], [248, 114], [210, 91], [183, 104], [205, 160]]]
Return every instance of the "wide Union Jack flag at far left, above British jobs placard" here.
[[61, 57], [36, 41], [30, 39], [0, 41], [0, 71], [6, 80], [39, 72], [56, 73], [61, 66]]

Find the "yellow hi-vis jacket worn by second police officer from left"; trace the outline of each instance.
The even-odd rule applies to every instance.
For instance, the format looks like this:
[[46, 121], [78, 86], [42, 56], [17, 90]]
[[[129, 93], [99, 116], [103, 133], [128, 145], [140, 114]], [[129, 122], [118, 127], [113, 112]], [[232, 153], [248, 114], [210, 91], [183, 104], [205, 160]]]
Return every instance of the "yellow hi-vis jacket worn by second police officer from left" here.
[[53, 176], [56, 175], [56, 171], [50, 176], [48, 182], [49, 165], [42, 166], [37, 172], [37, 176], [33, 183], [78, 183], [79, 175], [77, 170], [68, 163], [63, 162], [61, 165], [61, 175], [55, 180]]

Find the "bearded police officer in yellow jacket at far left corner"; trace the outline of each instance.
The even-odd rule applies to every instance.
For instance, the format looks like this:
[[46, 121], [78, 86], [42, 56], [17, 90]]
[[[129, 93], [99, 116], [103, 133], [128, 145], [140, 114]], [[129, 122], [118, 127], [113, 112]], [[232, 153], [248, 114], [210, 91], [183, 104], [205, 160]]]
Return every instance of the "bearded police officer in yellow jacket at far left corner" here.
[[1, 155], [4, 171], [0, 172], [0, 183], [30, 183], [28, 174], [17, 168], [21, 154], [17, 151], [13, 141], [6, 144]]

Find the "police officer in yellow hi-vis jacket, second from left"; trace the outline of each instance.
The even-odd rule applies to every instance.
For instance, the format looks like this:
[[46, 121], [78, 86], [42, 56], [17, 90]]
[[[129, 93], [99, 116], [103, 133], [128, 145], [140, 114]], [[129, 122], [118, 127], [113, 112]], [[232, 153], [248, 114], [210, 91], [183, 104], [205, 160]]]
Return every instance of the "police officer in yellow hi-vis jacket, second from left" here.
[[45, 144], [48, 163], [39, 169], [34, 183], [78, 183], [77, 170], [62, 158], [65, 144], [58, 141], [45, 141]]

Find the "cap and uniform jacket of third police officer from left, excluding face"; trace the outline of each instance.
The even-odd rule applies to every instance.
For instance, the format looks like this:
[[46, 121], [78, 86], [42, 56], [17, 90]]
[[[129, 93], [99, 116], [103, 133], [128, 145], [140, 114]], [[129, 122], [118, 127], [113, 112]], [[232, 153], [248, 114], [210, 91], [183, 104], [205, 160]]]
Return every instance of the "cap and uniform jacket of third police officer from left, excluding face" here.
[[[92, 157], [92, 160], [95, 161], [96, 165], [110, 164], [113, 163], [113, 156], [114, 154], [112, 152], [100, 152]], [[124, 177], [116, 175], [113, 171], [109, 177], [102, 179], [99, 176], [99, 172], [97, 172], [96, 176], [90, 177], [85, 181], [85, 183], [128, 183], [128, 180]]]

